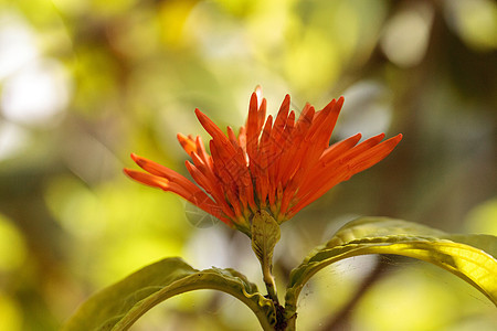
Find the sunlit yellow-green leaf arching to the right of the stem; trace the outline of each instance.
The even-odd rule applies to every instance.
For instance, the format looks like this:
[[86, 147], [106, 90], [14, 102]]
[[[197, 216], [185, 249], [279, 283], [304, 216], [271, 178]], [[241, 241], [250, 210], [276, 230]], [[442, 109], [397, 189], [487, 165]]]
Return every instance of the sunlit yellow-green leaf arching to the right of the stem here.
[[317, 271], [343, 258], [366, 254], [394, 254], [432, 263], [466, 280], [497, 306], [496, 245], [497, 237], [490, 235], [447, 235], [400, 220], [360, 218], [339, 229], [331, 241], [292, 270], [285, 313], [288, 318], [295, 312], [300, 290]]

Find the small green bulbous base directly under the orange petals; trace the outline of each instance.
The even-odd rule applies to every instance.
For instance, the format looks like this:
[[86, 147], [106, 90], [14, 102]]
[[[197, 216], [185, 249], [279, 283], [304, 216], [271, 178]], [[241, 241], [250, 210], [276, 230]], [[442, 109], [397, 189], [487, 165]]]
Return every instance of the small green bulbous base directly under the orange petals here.
[[266, 211], [257, 212], [252, 220], [252, 249], [263, 269], [273, 267], [273, 252], [279, 237], [278, 223]]

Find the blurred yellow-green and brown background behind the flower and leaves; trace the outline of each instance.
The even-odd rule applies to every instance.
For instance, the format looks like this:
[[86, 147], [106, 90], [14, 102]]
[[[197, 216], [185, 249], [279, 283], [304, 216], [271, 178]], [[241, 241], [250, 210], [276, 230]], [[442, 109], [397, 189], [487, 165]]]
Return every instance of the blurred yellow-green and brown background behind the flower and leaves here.
[[[0, 0], [0, 330], [56, 330], [94, 291], [162, 257], [261, 284], [250, 241], [131, 182], [130, 152], [187, 175], [176, 134], [345, 95], [334, 141], [402, 132], [380, 164], [283, 225], [285, 275], [345, 222], [383, 215], [497, 235], [497, 4], [490, 0]], [[194, 212], [194, 211], [193, 211]], [[193, 221], [192, 221], [193, 220]], [[455, 276], [394, 256], [320, 271], [300, 330], [494, 330]], [[134, 330], [257, 330], [235, 299], [176, 297]]]

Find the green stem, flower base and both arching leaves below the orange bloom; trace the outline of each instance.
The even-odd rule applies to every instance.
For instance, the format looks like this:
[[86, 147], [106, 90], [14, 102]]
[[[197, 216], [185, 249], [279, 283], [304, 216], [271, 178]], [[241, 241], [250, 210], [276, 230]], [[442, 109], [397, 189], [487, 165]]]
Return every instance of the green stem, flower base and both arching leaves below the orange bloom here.
[[269, 299], [233, 269], [197, 270], [180, 258], [167, 258], [96, 293], [67, 322], [64, 330], [127, 330], [163, 300], [198, 289], [215, 289], [240, 299], [264, 330], [295, 330], [298, 296], [320, 269], [341, 259], [366, 254], [393, 254], [440, 266], [461, 277], [497, 306], [497, 237], [448, 235], [427, 226], [384, 217], [364, 217], [339, 229], [290, 273], [284, 313], [277, 313], [273, 250], [279, 226], [262, 211], [253, 220], [252, 246], [261, 261]]

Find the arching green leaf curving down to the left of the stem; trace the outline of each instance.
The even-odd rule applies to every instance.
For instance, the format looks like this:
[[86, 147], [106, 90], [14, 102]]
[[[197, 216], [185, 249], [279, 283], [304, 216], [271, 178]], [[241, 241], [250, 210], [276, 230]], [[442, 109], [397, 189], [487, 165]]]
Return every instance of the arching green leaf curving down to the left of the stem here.
[[275, 308], [257, 287], [233, 269], [197, 270], [180, 258], [166, 258], [95, 293], [63, 330], [127, 330], [145, 312], [182, 292], [216, 289], [243, 301], [264, 330], [276, 322]]

